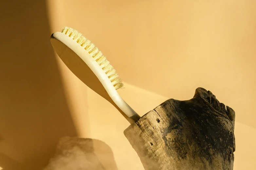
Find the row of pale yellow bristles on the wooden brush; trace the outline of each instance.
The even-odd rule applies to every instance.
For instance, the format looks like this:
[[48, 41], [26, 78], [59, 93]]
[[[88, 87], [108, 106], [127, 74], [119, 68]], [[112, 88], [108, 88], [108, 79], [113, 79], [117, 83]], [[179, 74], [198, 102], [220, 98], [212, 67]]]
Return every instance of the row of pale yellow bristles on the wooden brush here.
[[101, 51], [99, 51], [98, 48], [95, 47], [95, 45], [91, 43], [90, 40], [85, 38], [77, 30], [74, 30], [70, 27], [63, 27], [61, 32], [75, 40], [95, 59], [95, 61], [100, 65], [102, 70], [106, 73], [107, 77], [109, 78], [116, 90], [123, 87], [122, 80], [119, 78], [116, 70], [113, 68], [112, 65], [110, 65], [106, 57], [102, 55]]

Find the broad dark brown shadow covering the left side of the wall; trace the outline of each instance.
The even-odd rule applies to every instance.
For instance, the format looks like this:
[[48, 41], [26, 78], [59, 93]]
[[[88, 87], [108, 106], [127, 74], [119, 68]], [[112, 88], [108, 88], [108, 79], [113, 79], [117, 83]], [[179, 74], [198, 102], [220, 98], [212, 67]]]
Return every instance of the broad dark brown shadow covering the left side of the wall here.
[[0, 44], [0, 167], [45, 167], [62, 136], [76, 136], [50, 44], [44, 1], [4, 1]]

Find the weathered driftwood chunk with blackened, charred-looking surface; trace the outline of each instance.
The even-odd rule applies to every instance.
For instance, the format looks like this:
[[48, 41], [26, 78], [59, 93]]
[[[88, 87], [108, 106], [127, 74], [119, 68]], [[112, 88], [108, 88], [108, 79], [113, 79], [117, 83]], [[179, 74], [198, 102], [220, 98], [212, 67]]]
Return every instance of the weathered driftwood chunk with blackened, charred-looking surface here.
[[124, 135], [145, 170], [232, 170], [235, 112], [197, 88], [192, 99], [169, 99]]

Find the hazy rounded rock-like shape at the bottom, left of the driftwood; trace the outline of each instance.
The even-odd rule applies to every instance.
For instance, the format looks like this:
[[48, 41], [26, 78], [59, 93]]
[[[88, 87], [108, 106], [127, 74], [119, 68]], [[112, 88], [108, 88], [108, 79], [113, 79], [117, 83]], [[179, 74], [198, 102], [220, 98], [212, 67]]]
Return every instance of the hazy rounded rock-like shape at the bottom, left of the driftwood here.
[[111, 148], [96, 139], [63, 137], [44, 170], [117, 170]]

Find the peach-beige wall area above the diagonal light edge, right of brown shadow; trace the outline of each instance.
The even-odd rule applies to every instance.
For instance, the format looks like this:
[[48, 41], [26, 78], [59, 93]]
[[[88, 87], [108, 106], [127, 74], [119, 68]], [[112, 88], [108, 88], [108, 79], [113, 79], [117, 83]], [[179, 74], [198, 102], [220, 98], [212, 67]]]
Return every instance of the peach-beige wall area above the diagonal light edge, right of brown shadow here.
[[256, 128], [255, 1], [68, 2], [49, 1], [52, 31], [82, 32], [125, 82], [180, 100], [210, 89]]

